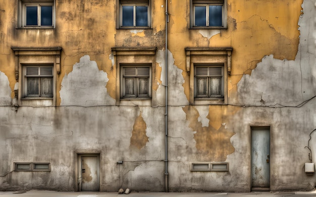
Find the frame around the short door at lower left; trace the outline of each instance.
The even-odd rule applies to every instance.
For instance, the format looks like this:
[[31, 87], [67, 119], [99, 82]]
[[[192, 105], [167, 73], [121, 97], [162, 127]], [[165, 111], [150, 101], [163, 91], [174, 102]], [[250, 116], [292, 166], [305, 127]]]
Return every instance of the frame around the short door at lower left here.
[[82, 157], [97, 157], [97, 190], [100, 190], [100, 154], [98, 153], [77, 153], [77, 178], [76, 178], [76, 185], [77, 185], [77, 191], [86, 191], [82, 190]]

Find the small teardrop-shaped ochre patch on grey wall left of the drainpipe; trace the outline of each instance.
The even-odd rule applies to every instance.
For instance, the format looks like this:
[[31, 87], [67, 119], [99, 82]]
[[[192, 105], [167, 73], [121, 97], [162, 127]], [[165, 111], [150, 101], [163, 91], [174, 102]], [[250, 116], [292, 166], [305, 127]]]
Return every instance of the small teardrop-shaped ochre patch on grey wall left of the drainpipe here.
[[136, 147], [140, 150], [141, 148], [145, 147], [149, 139], [146, 136], [146, 127], [146, 122], [144, 121], [140, 113], [139, 116], [136, 117], [133, 125], [130, 148]]

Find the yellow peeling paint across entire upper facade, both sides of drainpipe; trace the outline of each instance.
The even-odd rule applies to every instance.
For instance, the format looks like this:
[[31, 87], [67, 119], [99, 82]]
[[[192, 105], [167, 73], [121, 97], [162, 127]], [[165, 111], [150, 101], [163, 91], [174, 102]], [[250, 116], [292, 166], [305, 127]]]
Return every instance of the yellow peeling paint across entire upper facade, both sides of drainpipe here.
[[[228, 77], [228, 96], [237, 95], [237, 84], [243, 75], [251, 75], [265, 55], [294, 59], [298, 51], [298, 20], [303, 0], [228, 0], [227, 29], [190, 29], [189, 1], [168, 4], [168, 50], [174, 64], [181, 69], [184, 93], [189, 100], [189, 72], [186, 72], [185, 47], [232, 47], [232, 72]], [[83, 55], [90, 55], [99, 70], [107, 72], [108, 94], [116, 98], [116, 68], [109, 59], [111, 47], [165, 47], [165, 1], [151, 1], [151, 28], [136, 31], [117, 29], [116, 1], [57, 1], [55, 29], [19, 29], [17, 4], [3, 1], [0, 17], [12, 23], [0, 24], [0, 71], [9, 79], [14, 97], [15, 57], [12, 46], [63, 48], [61, 73], [56, 77], [56, 103], [60, 105], [61, 82]], [[163, 5], [163, 6], [162, 6]], [[104, 20], [107, 19], [107, 20]], [[209, 32], [208, 32], [209, 31]], [[220, 33], [214, 34], [219, 31]], [[135, 33], [133, 33], [135, 32]], [[212, 33], [213, 32], [213, 33]], [[206, 35], [206, 36], [205, 36]], [[209, 35], [213, 35], [210, 36]], [[30, 44], [31, 43], [31, 44]], [[153, 90], [161, 84], [162, 69], [155, 68]]]

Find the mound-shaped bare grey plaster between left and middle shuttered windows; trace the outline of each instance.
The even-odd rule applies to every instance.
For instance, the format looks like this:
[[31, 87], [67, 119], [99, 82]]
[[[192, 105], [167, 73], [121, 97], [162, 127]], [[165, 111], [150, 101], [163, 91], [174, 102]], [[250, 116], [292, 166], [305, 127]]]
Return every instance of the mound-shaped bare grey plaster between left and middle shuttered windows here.
[[89, 55], [80, 58], [73, 70], [65, 75], [60, 91], [61, 105], [97, 106], [115, 105], [107, 92], [107, 73], [99, 71]]

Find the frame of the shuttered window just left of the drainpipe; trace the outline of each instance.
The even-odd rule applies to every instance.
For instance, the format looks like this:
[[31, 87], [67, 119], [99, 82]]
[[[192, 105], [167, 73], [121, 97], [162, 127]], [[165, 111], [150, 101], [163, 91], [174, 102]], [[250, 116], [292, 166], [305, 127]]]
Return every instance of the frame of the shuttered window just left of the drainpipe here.
[[[137, 68], [148, 68], [148, 76], [124, 76], [124, 70], [126, 68], [136, 68], [136, 72], [137, 72]], [[151, 65], [126, 65], [123, 64], [121, 65], [121, 98], [127, 98], [127, 99], [148, 99], [151, 98]], [[125, 88], [125, 78], [135, 78], [136, 83], [134, 84], [134, 91], [135, 91], [135, 95], [127, 95], [126, 94], [126, 88]], [[138, 87], [138, 80], [139, 78], [147, 78], [148, 79], [148, 87], [147, 87], [147, 95], [140, 95], [139, 94], [139, 87]]]

